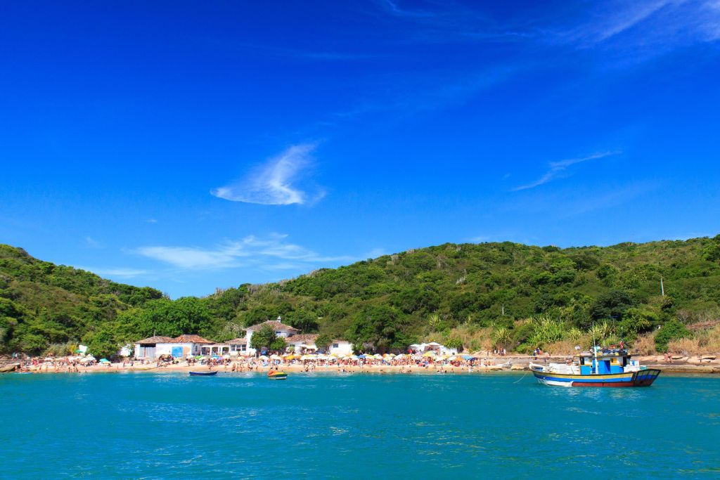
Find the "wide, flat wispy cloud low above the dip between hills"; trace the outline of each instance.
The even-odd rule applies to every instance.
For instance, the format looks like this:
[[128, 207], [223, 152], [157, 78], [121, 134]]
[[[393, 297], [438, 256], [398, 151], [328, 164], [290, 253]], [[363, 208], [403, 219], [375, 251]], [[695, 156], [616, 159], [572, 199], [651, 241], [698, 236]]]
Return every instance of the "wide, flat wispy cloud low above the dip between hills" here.
[[240, 266], [270, 269], [281, 266], [286, 268], [291, 264], [293, 266], [309, 266], [316, 263], [353, 260], [348, 256], [319, 255], [310, 249], [289, 243], [286, 239], [287, 235], [270, 235], [267, 238], [251, 235], [239, 241], [228, 241], [210, 248], [152, 245], [135, 248], [132, 253], [183, 270], [217, 270]]

